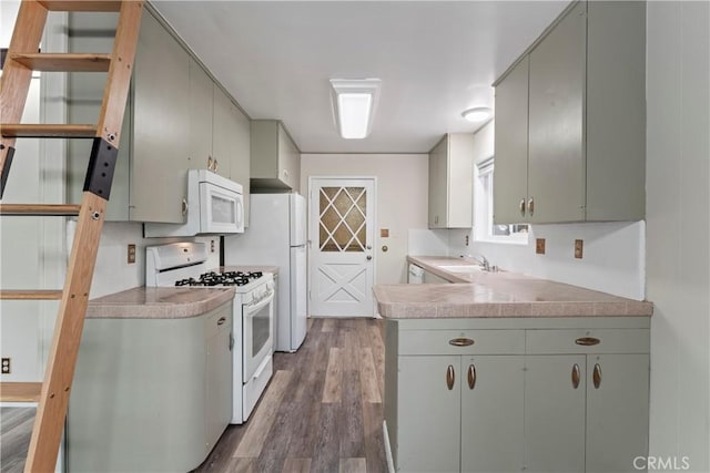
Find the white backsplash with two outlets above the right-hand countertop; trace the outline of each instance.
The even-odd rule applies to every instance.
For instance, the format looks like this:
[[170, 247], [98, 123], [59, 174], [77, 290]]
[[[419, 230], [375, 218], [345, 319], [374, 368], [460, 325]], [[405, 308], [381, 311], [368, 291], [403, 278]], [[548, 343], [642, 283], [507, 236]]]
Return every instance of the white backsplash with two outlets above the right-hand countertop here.
[[[474, 241], [473, 234], [471, 229], [409, 230], [409, 253], [484, 255], [504, 270], [636, 300], [646, 298], [645, 222], [537, 225], [531, 228], [527, 245]], [[545, 255], [536, 255], [536, 238], [545, 238]], [[575, 239], [584, 240], [582, 259], [575, 259]]]

